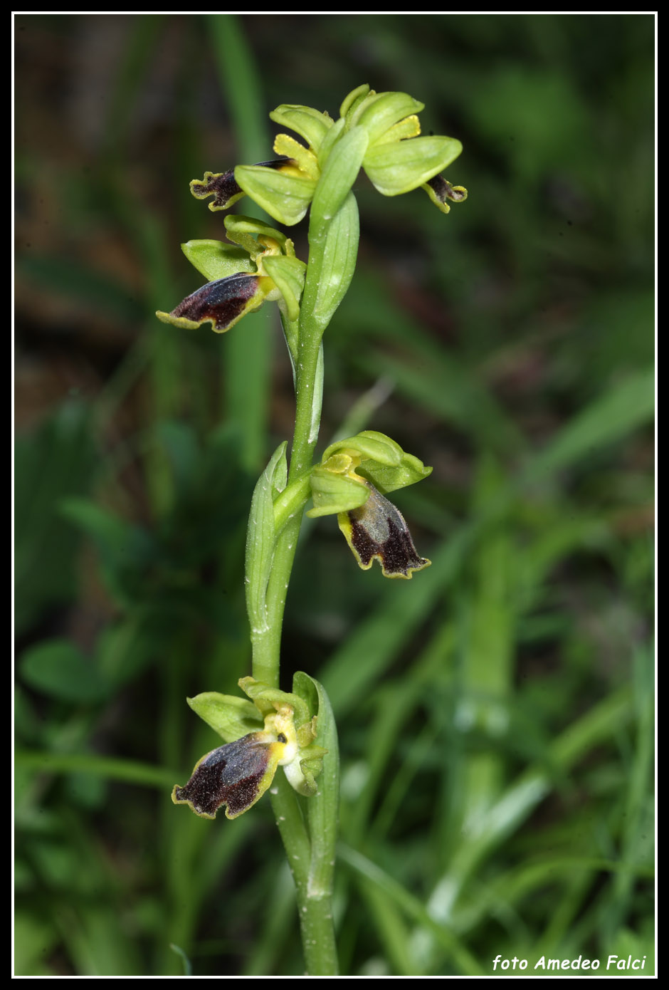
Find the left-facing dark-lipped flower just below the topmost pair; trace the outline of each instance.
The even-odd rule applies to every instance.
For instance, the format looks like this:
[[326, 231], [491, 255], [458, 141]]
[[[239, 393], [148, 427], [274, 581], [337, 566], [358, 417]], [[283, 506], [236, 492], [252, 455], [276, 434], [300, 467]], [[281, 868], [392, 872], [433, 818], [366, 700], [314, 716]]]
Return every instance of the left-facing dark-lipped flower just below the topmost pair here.
[[297, 320], [306, 265], [295, 257], [293, 242], [284, 234], [248, 217], [227, 217], [229, 240], [189, 241], [182, 250], [210, 281], [187, 296], [158, 320], [194, 330], [211, 323], [223, 334], [265, 300], [276, 300], [289, 322]]

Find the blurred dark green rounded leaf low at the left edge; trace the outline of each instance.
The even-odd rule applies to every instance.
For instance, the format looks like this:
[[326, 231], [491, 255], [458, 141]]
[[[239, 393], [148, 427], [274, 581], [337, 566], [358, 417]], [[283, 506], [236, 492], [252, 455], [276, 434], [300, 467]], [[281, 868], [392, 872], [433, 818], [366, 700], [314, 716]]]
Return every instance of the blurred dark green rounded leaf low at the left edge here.
[[27, 650], [20, 669], [27, 684], [61, 701], [92, 703], [109, 691], [91, 660], [67, 640], [51, 640]]

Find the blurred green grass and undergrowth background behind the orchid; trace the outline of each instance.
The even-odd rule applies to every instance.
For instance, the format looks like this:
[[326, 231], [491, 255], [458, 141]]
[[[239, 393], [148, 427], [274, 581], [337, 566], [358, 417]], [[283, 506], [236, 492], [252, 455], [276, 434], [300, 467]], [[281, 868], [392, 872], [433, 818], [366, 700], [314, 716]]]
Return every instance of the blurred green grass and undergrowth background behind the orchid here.
[[398, 498], [428, 570], [363, 573], [324, 520], [288, 599], [285, 686], [323, 681], [341, 744], [341, 971], [654, 971], [653, 18], [15, 29], [15, 972], [302, 971], [269, 806], [169, 800], [215, 744], [186, 695], [248, 673], [290, 369], [268, 311], [224, 338], [152, 313], [197, 285], [179, 243], [223, 237], [188, 181], [362, 81], [462, 140], [470, 195], [443, 217], [360, 178], [326, 340], [324, 446], [354, 415], [434, 465]]

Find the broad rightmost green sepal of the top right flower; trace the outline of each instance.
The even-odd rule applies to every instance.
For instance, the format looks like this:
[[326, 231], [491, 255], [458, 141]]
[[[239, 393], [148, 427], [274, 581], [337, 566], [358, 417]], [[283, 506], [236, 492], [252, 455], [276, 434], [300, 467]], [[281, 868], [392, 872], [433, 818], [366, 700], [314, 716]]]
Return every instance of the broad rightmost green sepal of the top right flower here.
[[380, 193], [400, 196], [443, 171], [461, 150], [462, 145], [455, 138], [412, 138], [368, 148], [362, 165]]

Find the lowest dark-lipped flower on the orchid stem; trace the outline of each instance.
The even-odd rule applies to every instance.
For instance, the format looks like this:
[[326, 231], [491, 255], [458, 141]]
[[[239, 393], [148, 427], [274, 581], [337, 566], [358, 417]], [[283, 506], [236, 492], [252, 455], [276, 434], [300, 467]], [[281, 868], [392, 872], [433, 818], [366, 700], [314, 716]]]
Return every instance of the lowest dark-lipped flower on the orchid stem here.
[[317, 719], [304, 699], [252, 677], [242, 678], [239, 685], [253, 703], [216, 692], [188, 699], [190, 707], [224, 739], [262, 726], [206, 753], [195, 764], [188, 783], [173, 788], [174, 804], [186, 804], [202, 818], [216, 818], [224, 806], [227, 818], [237, 818], [262, 797], [279, 766], [300, 794], [316, 792], [315, 777], [326, 750], [315, 745]]

